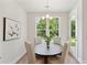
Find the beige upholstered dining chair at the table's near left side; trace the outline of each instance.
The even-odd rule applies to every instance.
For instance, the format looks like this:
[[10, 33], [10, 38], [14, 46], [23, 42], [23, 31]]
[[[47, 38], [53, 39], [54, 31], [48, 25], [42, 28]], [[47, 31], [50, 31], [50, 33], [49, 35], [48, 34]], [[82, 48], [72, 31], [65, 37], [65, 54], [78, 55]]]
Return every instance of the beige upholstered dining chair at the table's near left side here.
[[28, 54], [28, 63], [29, 64], [42, 64], [43, 58], [35, 57], [34, 45], [32, 43], [25, 42], [26, 54]]

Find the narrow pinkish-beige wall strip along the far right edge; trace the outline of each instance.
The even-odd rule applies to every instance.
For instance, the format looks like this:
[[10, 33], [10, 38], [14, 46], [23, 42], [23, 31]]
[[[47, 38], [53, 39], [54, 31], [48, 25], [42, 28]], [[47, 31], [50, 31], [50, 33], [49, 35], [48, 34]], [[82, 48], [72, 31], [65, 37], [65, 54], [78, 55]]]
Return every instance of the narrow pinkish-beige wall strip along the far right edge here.
[[87, 63], [87, 0], [83, 0], [83, 62]]

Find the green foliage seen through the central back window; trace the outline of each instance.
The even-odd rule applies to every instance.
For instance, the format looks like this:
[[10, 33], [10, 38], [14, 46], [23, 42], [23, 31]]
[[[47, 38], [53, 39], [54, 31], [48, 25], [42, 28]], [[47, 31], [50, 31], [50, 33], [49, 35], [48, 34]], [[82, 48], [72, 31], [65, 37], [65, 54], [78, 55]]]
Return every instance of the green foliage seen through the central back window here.
[[46, 19], [40, 19], [37, 23], [37, 36], [51, 41], [55, 35], [58, 35], [58, 18], [50, 19], [50, 36], [46, 36]]

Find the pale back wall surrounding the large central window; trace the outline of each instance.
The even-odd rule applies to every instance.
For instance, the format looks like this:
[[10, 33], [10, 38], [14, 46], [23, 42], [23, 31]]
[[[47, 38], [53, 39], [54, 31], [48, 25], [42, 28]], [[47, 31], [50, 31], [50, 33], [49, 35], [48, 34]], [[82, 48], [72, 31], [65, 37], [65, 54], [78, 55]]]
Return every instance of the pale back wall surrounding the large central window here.
[[[66, 40], [68, 40], [68, 13], [48, 13], [51, 17], [58, 17], [61, 19], [61, 37], [62, 43], [64, 43]], [[35, 18], [36, 17], [45, 17], [45, 13], [39, 13], [39, 12], [28, 12], [28, 33], [29, 33], [29, 40], [31, 42], [34, 42], [35, 37]]]

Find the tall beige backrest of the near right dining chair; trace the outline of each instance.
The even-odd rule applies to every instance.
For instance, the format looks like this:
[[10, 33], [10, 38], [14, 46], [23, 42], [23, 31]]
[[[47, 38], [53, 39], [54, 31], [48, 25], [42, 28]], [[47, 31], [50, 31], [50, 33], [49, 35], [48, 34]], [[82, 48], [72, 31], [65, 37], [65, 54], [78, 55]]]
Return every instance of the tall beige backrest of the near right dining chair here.
[[69, 45], [67, 43], [65, 43], [64, 47], [63, 47], [63, 53], [62, 53], [62, 63], [66, 62], [68, 51], [69, 51]]

